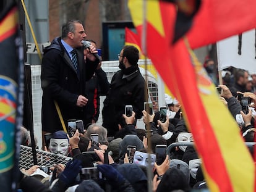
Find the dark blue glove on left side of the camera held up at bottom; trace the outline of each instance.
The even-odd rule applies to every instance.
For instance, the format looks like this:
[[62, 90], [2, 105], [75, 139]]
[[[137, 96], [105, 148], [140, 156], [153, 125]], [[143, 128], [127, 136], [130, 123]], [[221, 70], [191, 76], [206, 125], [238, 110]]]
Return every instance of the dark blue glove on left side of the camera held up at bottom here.
[[64, 182], [66, 186], [71, 186], [75, 183], [75, 178], [77, 177], [81, 168], [81, 161], [79, 159], [69, 161], [64, 171], [61, 173], [61, 175], [59, 175], [59, 180]]

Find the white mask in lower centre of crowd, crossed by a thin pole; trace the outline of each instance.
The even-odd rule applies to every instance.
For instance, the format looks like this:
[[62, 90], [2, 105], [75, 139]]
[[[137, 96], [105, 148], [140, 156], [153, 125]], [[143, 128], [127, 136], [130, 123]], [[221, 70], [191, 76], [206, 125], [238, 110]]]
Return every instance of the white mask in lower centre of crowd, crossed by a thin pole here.
[[154, 165], [156, 161], [156, 155], [150, 154], [150, 159], [148, 159], [148, 154], [145, 152], [135, 151], [134, 153], [134, 164], [148, 166], [148, 162], [151, 162], [151, 166]]

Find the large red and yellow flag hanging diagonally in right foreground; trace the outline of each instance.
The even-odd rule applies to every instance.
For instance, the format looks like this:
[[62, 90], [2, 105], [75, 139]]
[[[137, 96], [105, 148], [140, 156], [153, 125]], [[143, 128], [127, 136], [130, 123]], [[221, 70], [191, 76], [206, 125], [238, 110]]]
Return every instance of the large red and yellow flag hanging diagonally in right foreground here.
[[[140, 38], [142, 8], [143, 1], [129, 0]], [[218, 98], [202, 64], [189, 50], [189, 43], [185, 40], [170, 43], [173, 42], [176, 6], [163, 1], [147, 1], [146, 17], [148, 57], [182, 104], [210, 191], [254, 191], [254, 162], [235, 120]]]

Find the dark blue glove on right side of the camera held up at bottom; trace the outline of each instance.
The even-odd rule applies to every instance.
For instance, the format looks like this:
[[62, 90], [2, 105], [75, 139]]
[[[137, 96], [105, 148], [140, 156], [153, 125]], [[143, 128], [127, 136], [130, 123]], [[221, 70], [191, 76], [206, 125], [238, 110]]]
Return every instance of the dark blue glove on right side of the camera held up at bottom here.
[[98, 165], [98, 170], [111, 182], [119, 185], [125, 182], [124, 177], [114, 167], [108, 164]]

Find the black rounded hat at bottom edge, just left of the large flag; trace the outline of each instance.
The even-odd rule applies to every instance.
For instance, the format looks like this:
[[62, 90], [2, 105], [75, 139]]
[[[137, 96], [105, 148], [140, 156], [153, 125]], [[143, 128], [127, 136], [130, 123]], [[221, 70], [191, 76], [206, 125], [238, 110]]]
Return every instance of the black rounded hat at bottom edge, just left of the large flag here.
[[189, 191], [189, 189], [189, 183], [184, 173], [173, 167], [164, 173], [156, 192], [173, 190]]

